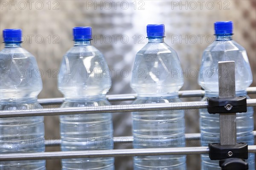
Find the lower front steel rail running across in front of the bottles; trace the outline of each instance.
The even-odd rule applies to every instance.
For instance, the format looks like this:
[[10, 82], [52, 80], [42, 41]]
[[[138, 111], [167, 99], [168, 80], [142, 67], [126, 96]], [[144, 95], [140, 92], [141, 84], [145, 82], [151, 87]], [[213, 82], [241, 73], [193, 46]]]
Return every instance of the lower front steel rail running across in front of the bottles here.
[[[249, 153], [256, 153], [256, 145], [248, 146]], [[73, 159], [73, 158], [98, 158], [115, 156], [156, 156], [156, 155], [189, 155], [207, 154], [208, 147], [166, 147], [145, 149], [116, 149], [116, 150], [83, 150], [83, 151], [58, 151], [39, 153], [7, 153], [0, 154], [0, 161], [21, 161], [40, 159]]]

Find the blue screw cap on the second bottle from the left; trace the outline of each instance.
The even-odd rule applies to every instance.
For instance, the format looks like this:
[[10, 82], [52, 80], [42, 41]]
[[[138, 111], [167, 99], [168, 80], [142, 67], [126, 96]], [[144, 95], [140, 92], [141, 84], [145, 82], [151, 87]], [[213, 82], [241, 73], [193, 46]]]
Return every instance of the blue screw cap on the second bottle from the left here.
[[90, 40], [92, 39], [91, 27], [74, 27], [73, 28], [74, 40]]

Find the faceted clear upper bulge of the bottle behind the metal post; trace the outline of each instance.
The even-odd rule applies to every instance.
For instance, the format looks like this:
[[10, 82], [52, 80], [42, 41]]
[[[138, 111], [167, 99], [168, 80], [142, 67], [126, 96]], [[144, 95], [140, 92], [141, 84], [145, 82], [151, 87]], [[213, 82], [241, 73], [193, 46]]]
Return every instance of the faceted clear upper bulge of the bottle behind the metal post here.
[[[253, 82], [245, 49], [234, 40], [215, 41], [203, 53], [198, 76], [198, 84], [205, 91], [218, 94], [218, 62], [220, 61], [235, 62], [236, 91], [245, 90]], [[227, 74], [227, 71], [222, 71], [221, 74]]]

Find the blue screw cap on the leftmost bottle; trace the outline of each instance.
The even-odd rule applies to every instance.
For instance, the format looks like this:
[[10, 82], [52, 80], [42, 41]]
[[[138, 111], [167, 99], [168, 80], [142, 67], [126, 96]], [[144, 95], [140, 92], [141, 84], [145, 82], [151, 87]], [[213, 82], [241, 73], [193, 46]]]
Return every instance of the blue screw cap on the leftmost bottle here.
[[4, 29], [3, 41], [4, 42], [21, 42], [21, 29]]

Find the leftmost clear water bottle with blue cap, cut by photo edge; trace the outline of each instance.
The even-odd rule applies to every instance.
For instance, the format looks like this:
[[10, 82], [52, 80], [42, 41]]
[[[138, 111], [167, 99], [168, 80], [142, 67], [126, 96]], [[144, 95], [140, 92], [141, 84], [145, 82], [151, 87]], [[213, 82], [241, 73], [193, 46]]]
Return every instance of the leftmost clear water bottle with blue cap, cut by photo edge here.
[[[35, 57], [21, 48], [21, 29], [4, 29], [5, 48], [0, 51], [1, 111], [42, 109], [42, 90]], [[44, 117], [0, 119], [0, 153], [44, 152]], [[1, 170], [44, 170], [45, 160], [0, 161]]]

